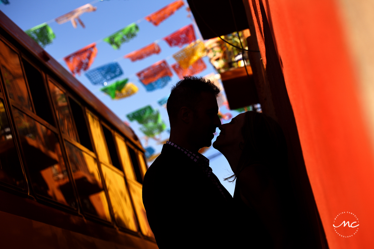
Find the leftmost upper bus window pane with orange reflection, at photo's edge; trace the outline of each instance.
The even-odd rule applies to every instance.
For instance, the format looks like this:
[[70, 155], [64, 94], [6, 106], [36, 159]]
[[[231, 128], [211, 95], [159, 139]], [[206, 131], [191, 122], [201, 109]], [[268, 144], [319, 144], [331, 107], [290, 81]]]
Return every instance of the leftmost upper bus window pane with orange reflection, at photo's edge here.
[[9, 97], [32, 111], [18, 54], [2, 41], [0, 41], [0, 62]]

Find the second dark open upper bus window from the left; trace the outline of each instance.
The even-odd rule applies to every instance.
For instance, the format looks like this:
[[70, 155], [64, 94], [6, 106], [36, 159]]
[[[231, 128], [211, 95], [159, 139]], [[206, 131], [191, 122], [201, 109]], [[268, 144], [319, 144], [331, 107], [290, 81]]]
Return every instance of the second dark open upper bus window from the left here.
[[70, 97], [68, 98], [71, 108], [71, 114], [73, 114], [75, 127], [77, 129], [77, 134], [79, 137], [79, 142], [81, 145], [85, 146], [90, 151], [93, 151], [91, 138], [88, 133], [88, 127], [83, 113], [83, 109], [75, 100], [73, 100]]

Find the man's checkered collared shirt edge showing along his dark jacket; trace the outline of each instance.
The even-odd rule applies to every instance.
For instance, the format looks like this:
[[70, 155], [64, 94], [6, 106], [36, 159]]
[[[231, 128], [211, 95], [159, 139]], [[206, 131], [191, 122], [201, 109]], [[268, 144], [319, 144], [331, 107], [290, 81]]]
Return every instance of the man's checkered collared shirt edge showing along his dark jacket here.
[[199, 165], [200, 167], [202, 167], [202, 170], [203, 172], [206, 174], [206, 176], [208, 176], [209, 179], [211, 179], [211, 181], [215, 184], [215, 186], [217, 186], [217, 188], [220, 190], [221, 194], [223, 195], [223, 197], [225, 199], [226, 198], [226, 195], [224, 194], [224, 192], [222, 191], [222, 188], [220, 186], [220, 184], [218, 183], [219, 180], [217, 178], [217, 176], [215, 176], [215, 174], [212, 173], [212, 168], [209, 167], [209, 159], [204, 157], [202, 154], [200, 153], [193, 153], [191, 151], [189, 151], [188, 149], [185, 149], [181, 146], [178, 146], [170, 141], [167, 141], [166, 144], [168, 145], [171, 145], [177, 149], [179, 149], [180, 151], [184, 152], [184, 154], [186, 154], [186, 156], [188, 158], [190, 158], [192, 161], [194, 161], [195, 163], [197, 163], [197, 165]]

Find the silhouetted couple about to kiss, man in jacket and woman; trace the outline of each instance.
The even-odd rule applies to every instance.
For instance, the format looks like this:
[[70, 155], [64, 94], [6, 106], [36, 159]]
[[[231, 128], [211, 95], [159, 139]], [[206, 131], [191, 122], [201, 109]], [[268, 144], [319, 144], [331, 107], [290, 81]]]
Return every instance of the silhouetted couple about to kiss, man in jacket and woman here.
[[[287, 211], [291, 187], [287, 145], [279, 124], [247, 111], [221, 124], [220, 89], [185, 76], [166, 108], [170, 138], [144, 176], [142, 197], [157, 245], [163, 248], [291, 248]], [[211, 146], [230, 164], [234, 196], [199, 154]]]

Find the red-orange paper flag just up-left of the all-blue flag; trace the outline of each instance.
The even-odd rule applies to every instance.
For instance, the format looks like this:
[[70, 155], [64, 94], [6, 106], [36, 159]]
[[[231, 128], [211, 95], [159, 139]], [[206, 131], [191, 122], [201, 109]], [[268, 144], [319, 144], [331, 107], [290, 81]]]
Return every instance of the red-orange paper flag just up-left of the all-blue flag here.
[[64, 61], [69, 67], [73, 76], [77, 73], [80, 75], [82, 70], [86, 71], [90, 68], [91, 64], [95, 60], [97, 54], [96, 43], [92, 43], [73, 54], [69, 54], [64, 57]]

